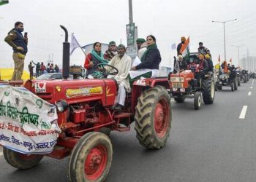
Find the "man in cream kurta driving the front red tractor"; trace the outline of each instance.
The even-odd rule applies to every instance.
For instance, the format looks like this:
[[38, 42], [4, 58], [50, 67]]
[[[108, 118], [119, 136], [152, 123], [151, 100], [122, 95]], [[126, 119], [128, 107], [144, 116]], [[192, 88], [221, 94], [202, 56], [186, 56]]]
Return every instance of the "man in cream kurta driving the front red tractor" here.
[[[125, 46], [123, 44], [118, 45], [118, 55], [115, 55], [110, 63], [110, 66], [114, 66], [118, 69], [118, 74], [109, 75], [108, 78], [113, 78], [118, 83], [118, 95], [116, 97], [116, 105], [113, 106], [113, 109], [117, 111], [124, 110], [124, 102], [126, 91], [131, 92], [131, 87], [128, 81], [128, 74], [132, 68], [132, 58], [125, 54]], [[107, 67], [108, 71], [111, 71], [112, 68]]]

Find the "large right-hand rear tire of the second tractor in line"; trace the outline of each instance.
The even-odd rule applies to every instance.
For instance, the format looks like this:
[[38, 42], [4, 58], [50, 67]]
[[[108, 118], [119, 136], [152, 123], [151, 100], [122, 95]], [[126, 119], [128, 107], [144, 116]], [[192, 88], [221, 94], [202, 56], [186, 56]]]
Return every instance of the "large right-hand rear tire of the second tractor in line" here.
[[206, 104], [214, 103], [215, 88], [214, 81], [211, 79], [203, 79], [203, 102]]

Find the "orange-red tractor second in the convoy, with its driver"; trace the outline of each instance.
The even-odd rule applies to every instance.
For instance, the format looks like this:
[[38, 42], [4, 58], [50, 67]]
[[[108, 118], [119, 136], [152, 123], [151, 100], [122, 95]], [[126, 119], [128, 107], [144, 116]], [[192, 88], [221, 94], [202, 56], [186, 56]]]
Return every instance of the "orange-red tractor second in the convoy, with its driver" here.
[[[176, 58], [175, 62], [176, 62]], [[200, 59], [197, 54], [190, 54], [187, 69], [169, 74], [171, 94], [177, 103], [183, 103], [186, 98], [194, 99], [195, 110], [200, 109], [201, 103], [214, 103], [215, 87], [211, 72], [203, 74], [200, 70]], [[203, 95], [203, 96], [202, 96]]]

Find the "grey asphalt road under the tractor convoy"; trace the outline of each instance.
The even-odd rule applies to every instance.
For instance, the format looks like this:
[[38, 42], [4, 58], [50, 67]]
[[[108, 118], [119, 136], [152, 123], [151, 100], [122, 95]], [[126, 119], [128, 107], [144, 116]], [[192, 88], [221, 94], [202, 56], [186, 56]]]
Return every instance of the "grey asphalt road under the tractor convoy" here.
[[[255, 182], [256, 80], [254, 84], [250, 80], [235, 92], [223, 87], [214, 104], [199, 111], [192, 99], [173, 103], [170, 138], [159, 151], [140, 146], [133, 128], [113, 132], [113, 163], [106, 181]], [[16, 170], [0, 156], [0, 166], [4, 182], [67, 181], [68, 157], [45, 157], [31, 170]]]

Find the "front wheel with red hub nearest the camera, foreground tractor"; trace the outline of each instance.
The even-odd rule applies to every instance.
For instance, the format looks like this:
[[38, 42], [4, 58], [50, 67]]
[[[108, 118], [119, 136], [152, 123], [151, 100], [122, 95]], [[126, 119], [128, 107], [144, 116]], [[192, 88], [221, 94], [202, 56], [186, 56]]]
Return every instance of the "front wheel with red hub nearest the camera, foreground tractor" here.
[[111, 167], [113, 149], [101, 132], [88, 132], [75, 145], [69, 159], [69, 181], [104, 181]]

